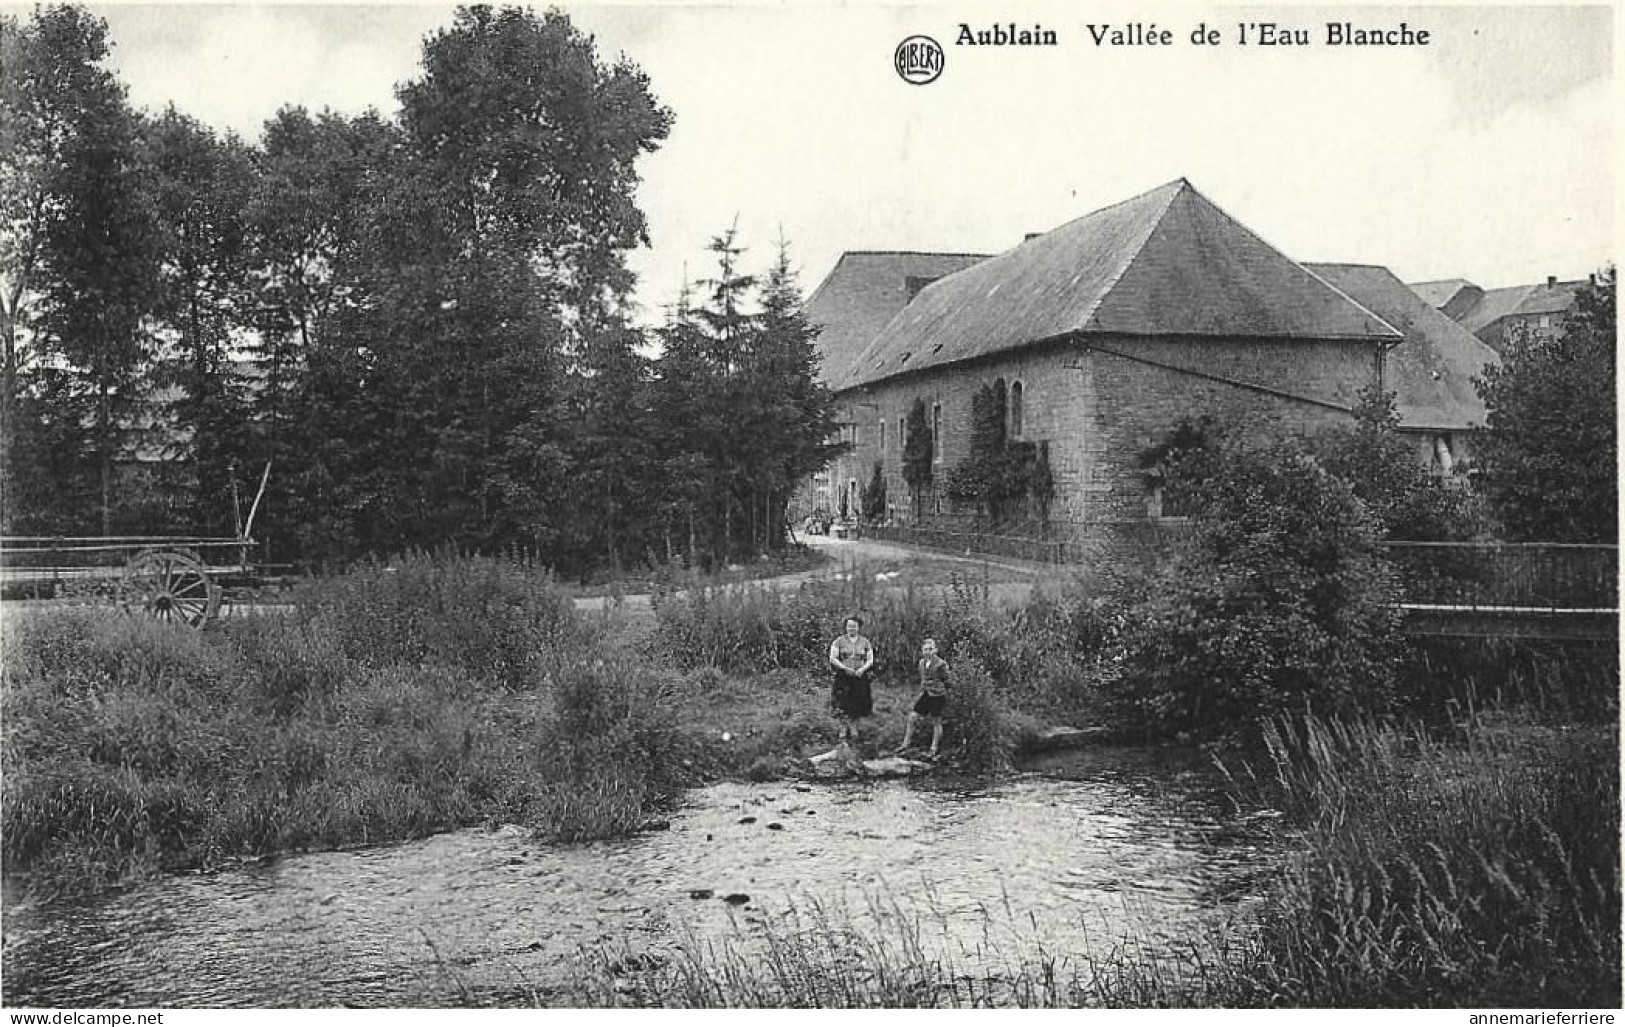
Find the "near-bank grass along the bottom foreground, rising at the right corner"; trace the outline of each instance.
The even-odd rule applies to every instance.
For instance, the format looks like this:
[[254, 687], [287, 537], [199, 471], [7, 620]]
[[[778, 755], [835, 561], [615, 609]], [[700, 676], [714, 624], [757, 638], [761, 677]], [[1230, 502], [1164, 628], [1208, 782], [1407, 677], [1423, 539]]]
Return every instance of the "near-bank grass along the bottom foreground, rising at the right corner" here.
[[1092, 952], [993, 923], [975, 954], [886, 895], [731, 938], [583, 957], [601, 1006], [1488, 1006], [1620, 1003], [1617, 734], [1524, 718], [1453, 738], [1277, 723], [1238, 782], [1284, 804], [1285, 868], [1245, 930]]

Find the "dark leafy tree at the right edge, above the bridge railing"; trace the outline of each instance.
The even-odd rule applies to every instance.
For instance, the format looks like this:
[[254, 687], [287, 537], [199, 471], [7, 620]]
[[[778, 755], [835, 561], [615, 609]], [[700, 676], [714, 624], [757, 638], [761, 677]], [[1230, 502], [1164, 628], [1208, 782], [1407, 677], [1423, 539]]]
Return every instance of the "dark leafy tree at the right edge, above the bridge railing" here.
[[1477, 484], [1513, 538], [1618, 538], [1615, 283], [1604, 268], [1557, 335], [1514, 333], [1476, 380], [1488, 406]]

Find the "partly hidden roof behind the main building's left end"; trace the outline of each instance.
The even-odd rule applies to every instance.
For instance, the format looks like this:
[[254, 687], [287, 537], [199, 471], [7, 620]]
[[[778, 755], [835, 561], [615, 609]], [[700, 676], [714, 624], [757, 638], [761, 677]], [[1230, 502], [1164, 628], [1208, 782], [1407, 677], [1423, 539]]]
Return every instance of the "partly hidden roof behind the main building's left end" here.
[[942, 278], [986, 258], [986, 254], [842, 254], [804, 307], [808, 320], [821, 328], [817, 351], [824, 382], [834, 385], [886, 322], [908, 304], [910, 278]]

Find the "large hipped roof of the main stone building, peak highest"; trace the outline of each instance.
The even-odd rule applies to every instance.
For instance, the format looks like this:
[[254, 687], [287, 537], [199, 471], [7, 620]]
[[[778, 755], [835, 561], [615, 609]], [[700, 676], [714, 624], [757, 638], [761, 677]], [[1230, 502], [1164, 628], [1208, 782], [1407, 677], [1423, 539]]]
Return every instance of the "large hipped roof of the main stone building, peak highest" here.
[[830, 385], [1069, 333], [1399, 338], [1180, 179], [926, 286]]

